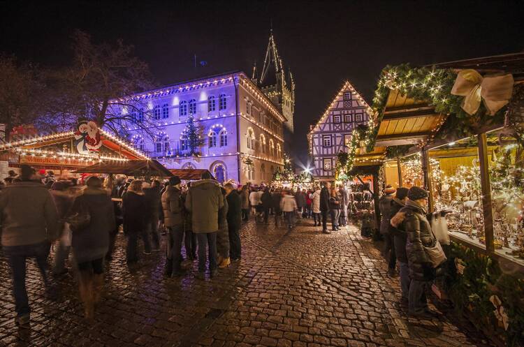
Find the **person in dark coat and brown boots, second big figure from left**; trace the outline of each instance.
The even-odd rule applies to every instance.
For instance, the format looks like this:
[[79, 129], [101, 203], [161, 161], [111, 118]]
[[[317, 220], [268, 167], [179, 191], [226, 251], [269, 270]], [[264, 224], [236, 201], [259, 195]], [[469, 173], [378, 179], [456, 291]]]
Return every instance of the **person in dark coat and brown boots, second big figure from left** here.
[[103, 290], [103, 258], [108, 253], [109, 233], [115, 229], [115, 212], [110, 191], [102, 188], [102, 179], [91, 176], [86, 187], [75, 198], [69, 216], [88, 211], [89, 225], [73, 230], [71, 246], [79, 276], [80, 299], [84, 303], [86, 318], [93, 318], [94, 304], [98, 303]]

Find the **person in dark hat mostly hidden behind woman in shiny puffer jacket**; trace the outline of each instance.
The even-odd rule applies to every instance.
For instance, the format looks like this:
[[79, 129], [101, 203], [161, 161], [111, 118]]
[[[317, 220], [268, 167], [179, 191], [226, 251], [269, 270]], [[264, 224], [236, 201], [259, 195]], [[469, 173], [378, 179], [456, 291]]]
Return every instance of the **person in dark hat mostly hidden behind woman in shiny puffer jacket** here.
[[[391, 208], [389, 210], [389, 234], [393, 236], [393, 244], [395, 246], [395, 255], [400, 267], [400, 288], [402, 289], [402, 297], [400, 303], [407, 305], [407, 296], [409, 293], [409, 267], [407, 266], [406, 241], [407, 235], [404, 229], [405, 214], [399, 213], [400, 209], [406, 205], [407, 202], [407, 188], [398, 188], [395, 198], [391, 201]], [[395, 271], [395, 264], [388, 266], [390, 274]]]

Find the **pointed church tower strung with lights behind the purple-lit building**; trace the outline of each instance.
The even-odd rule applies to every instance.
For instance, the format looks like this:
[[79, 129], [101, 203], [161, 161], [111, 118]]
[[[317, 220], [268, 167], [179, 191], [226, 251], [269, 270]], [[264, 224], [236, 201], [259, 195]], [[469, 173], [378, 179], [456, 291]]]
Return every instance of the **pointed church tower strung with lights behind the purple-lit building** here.
[[[284, 70], [271, 29], [268, 49], [265, 51], [264, 64], [259, 75], [256, 64], [253, 67], [253, 82], [270, 98], [273, 104], [286, 117], [284, 135], [286, 142], [289, 135], [293, 134], [293, 115], [295, 113], [295, 81], [289, 68]], [[286, 134], [287, 133], [287, 134]]]

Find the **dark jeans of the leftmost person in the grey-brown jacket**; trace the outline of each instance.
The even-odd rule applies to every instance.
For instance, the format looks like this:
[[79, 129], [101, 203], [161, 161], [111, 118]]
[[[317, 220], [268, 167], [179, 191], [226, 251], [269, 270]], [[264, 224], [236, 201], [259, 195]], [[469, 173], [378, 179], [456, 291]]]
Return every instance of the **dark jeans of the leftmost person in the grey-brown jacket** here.
[[23, 246], [3, 246], [3, 254], [6, 256], [11, 272], [13, 274], [13, 296], [15, 297], [15, 311], [17, 316], [24, 316], [31, 312], [29, 299], [25, 287], [26, 259], [36, 258], [36, 264], [40, 270], [45, 286], [48, 285], [48, 256], [50, 243], [45, 241], [39, 244], [26, 244]]

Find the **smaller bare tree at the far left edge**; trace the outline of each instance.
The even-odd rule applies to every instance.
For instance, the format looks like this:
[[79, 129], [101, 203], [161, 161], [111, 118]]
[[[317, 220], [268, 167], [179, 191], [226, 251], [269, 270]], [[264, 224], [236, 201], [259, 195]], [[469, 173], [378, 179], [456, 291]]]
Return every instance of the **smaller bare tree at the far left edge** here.
[[8, 142], [15, 126], [34, 121], [39, 95], [41, 84], [36, 70], [29, 64], [18, 64], [15, 57], [0, 56], [1, 140]]

